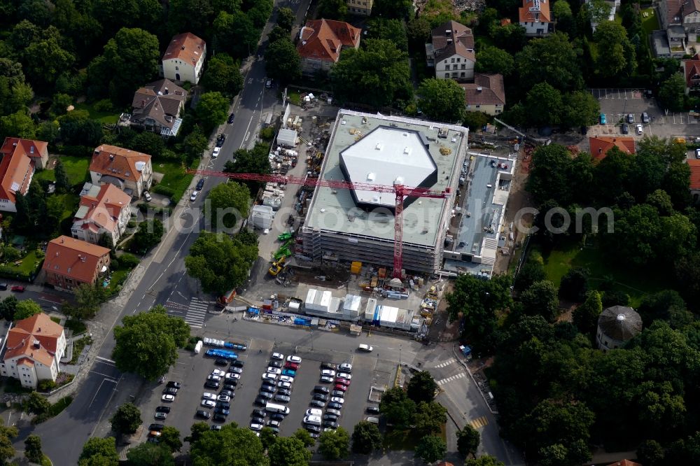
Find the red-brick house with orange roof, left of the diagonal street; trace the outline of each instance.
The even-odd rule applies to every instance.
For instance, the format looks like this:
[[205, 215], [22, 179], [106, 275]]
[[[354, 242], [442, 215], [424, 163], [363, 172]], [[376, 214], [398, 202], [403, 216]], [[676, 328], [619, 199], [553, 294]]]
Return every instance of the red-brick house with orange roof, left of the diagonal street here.
[[92, 285], [109, 270], [109, 249], [70, 236], [52, 239], [46, 248], [43, 271], [46, 283], [61, 290]]

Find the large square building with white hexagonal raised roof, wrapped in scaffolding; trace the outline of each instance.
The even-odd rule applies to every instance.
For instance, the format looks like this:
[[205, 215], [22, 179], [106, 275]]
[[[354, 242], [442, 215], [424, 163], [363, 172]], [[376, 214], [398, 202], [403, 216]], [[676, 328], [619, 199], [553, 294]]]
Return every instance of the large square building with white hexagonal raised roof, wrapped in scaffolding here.
[[[468, 129], [412, 118], [341, 110], [325, 150], [321, 178], [429, 188], [445, 199], [406, 198], [403, 268], [442, 268]], [[304, 254], [315, 260], [393, 264], [395, 195], [318, 187], [302, 227]]]

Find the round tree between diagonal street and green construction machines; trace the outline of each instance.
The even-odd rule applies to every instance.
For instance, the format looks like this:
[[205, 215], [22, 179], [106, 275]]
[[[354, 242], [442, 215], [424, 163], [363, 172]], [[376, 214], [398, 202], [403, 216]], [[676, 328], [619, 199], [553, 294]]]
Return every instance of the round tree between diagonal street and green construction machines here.
[[228, 234], [203, 231], [190, 247], [185, 267], [204, 291], [223, 295], [248, 279], [248, 270], [257, 258], [258, 246], [244, 245]]

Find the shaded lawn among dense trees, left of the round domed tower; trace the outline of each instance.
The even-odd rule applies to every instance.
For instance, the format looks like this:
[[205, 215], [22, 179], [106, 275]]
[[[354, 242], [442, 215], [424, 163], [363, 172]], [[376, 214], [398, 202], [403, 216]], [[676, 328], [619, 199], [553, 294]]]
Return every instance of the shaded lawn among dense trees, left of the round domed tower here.
[[[533, 247], [532, 253], [537, 253]], [[643, 297], [666, 288], [671, 288], [668, 274], [653, 267], [625, 267], [624, 264], [611, 263], [600, 249], [594, 246], [581, 247], [580, 243], [571, 241], [562, 243], [551, 253], [542, 254], [547, 279], [559, 286], [561, 277], [571, 267], [585, 267], [590, 271], [591, 288], [599, 288], [607, 278], [615, 283], [613, 288], [629, 295], [632, 307], [638, 307]]]

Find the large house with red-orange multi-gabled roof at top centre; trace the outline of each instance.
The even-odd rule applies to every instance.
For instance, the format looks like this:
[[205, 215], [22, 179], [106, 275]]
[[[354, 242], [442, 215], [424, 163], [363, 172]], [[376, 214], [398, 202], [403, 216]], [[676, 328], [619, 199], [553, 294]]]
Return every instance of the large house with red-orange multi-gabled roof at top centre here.
[[302, 73], [313, 76], [328, 72], [344, 48], [358, 48], [361, 29], [344, 21], [309, 20], [299, 32], [297, 52], [302, 58]]

